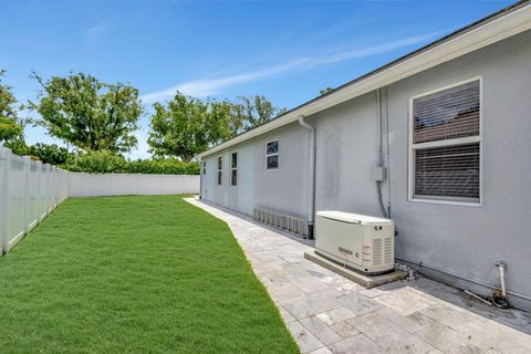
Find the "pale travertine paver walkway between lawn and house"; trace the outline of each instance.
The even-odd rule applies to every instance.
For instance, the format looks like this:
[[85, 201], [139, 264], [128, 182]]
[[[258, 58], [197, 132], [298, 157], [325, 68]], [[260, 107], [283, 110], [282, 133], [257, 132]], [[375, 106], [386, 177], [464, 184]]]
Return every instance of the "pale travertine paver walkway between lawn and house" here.
[[197, 199], [227, 221], [302, 353], [531, 353], [531, 315], [420, 278], [366, 290], [304, 259], [312, 241]]

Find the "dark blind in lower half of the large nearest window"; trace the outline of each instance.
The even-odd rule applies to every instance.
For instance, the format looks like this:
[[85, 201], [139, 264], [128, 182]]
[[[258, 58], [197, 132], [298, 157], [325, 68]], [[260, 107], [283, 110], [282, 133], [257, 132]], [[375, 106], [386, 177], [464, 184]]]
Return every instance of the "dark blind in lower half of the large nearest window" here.
[[479, 143], [415, 150], [415, 195], [479, 200]]

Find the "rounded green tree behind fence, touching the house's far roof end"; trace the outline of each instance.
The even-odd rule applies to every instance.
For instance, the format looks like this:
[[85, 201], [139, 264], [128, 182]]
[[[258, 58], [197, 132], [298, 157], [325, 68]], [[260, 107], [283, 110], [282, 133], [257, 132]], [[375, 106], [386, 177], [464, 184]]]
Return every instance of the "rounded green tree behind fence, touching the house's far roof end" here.
[[177, 92], [167, 105], [154, 104], [147, 143], [156, 157], [177, 156], [190, 162], [208, 148], [218, 134], [209, 117], [209, 104]]

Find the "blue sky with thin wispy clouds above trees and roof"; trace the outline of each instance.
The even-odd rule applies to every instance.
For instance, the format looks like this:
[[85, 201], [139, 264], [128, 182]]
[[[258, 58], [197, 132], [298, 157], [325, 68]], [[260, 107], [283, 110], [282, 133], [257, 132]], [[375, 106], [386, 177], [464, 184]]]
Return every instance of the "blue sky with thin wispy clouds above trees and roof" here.
[[[20, 102], [28, 77], [85, 72], [128, 82], [146, 104], [179, 90], [294, 107], [511, 1], [2, 1], [0, 69]], [[28, 127], [27, 142], [52, 143]]]

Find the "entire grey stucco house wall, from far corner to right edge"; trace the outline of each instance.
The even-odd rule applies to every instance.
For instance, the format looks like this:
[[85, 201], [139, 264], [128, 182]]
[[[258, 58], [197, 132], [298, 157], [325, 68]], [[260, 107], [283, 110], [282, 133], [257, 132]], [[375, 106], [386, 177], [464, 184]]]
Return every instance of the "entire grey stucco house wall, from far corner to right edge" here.
[[[496, 261], [508, 264], [507, 287], [518, 306], [531, 309], [531, 31], [444, 63], [387, 87], [383, 156], [388, 178], [384, 205], [396, 222], [396, 257], [461, 289], [491, 294]], [[481, 205], [410, 201], [409, 100], [481, 77]], [[378, 163], [376, 93], [306, 117], [315, 126], [315, 210], [381, 216], [371, 167]], [[279, 138], [281, 168], [264, 170], [264, 145]], [[238, 144], [223, 156], [223, 185], [215, 185], [208, 156], [205, 199], [252, 214], [254, 206], [305, 217], [308, 132], [293, 123]], [[230, 152], [238, 150], [239, 186], [229, 184]], [[418, 264], [423, 264], [419, 267]], [[528, 298], [525, 300], [525, 298]]]

